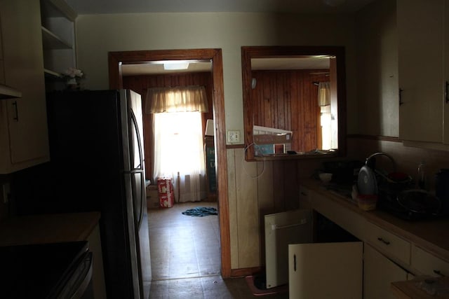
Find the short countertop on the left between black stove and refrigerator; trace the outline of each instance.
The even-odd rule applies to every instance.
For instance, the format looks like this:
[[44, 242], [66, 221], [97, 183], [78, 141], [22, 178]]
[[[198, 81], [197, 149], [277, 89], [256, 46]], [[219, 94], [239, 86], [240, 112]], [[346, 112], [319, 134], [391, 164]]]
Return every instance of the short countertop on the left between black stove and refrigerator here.
[[17, 216], [0, 222], [0, 246], [83, 241], [100, 212]]

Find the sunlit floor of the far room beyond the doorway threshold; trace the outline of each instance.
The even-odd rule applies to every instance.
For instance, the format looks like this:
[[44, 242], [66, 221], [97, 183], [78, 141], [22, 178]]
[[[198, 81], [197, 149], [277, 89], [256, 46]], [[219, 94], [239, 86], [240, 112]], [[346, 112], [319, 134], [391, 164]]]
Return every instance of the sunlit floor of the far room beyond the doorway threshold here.
[[194, 217], [182, 211], [215, 207], [215, 202], [188, 202], [150, 209], [149, 237], [153, 281], [220, 274], [220, 229], [216, 215]]

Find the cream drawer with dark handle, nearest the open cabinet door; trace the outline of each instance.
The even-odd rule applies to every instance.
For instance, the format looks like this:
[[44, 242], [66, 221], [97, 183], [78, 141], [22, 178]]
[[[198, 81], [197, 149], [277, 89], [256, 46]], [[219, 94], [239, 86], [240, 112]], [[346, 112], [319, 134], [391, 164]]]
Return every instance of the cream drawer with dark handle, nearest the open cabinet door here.
[[387, 232], [373, 223], [366, 223], [365, 240], [390, 258], [410, 263], [410, 242]]

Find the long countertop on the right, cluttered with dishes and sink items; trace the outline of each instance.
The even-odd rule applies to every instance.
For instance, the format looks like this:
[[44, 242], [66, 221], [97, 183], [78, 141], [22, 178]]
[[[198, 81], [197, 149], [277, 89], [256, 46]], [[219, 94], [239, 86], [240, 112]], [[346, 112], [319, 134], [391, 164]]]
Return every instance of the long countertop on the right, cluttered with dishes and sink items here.
[[379, 209], [363, 211], [349, 198], [326, 190], [321, 181], [306, 179], [301, 181], [301, 185], [326, 196], [329, 200], [333, 200], [347, 209], [351, 209], [351, 211], [355, 211], [380, 228], [388, 230], [449, 262], [449, 238], [445, 237], [449, 232], [449, 217], [407, 221]]

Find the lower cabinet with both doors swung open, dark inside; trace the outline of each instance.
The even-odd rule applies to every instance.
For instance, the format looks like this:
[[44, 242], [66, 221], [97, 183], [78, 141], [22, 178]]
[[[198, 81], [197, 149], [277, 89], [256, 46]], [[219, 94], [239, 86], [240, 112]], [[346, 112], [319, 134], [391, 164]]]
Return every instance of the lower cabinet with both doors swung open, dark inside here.
[[266, 215], [265, 241], [267, 288], [288, 282], [290, 298], [362, 298], [363, 242], [325, 216], [311, 219], [310, 209]]

